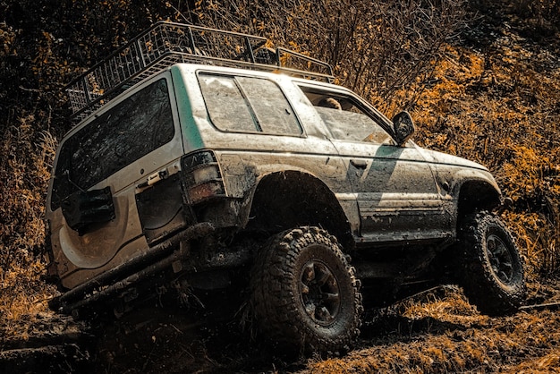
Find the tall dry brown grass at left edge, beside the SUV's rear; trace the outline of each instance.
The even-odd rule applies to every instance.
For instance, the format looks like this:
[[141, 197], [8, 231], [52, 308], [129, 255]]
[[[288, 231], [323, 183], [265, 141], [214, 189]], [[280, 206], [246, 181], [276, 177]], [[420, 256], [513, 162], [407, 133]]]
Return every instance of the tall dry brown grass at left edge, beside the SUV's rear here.
[[[41, 256], [45, 241], [44, 191], [55, 152], [48, 132], [35, 132], [32, 115], [5, 132], [0, 170], [4, 181], [0, 202], [0, 335], [27, 335], [29, 320], [47, 311], [55, 290], [42, 279], [46, 263]], [[22, 153], [21, 151], [25, 153]]]

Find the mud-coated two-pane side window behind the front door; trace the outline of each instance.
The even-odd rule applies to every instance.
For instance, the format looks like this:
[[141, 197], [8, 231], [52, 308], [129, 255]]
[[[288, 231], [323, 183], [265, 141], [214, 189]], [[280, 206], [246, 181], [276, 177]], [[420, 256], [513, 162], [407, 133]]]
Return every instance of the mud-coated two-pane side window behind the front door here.
[[210, 121], [227, 132], [300, 135], [292, 106], [273, 81], [199, 74]]

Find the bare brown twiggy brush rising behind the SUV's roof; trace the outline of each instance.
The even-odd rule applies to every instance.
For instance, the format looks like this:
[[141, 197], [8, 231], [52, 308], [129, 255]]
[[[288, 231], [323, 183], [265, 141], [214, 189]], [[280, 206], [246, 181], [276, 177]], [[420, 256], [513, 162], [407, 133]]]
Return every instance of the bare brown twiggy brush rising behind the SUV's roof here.
[[338, 84], [360, 92], [392, 117], [412, 107], [420, 90], [410, 87], [432, 75], [445, 43], [467, 26], [465, 4], [204, 0], [195, 3], [189, 21], [259, 34], [323, 59], [334, 67]]

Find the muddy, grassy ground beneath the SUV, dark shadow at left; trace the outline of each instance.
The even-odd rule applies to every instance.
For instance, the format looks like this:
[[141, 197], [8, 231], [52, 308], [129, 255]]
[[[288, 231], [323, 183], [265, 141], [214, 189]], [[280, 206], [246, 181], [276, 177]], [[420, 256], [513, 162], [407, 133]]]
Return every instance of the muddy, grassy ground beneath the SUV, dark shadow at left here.
[[527, 304], [539, 306], [500, 318], [480, 315], [461, 289], [438, 287], [367, 310], [354, 349], [325, 357], [277, 354], [223, 298], [212, 300], [205, 309], [157, 300], [92, 322], [30, 316], [28, 336], [4, 341], [0, 372], [560, 371], [560, 281], [530, 284]]

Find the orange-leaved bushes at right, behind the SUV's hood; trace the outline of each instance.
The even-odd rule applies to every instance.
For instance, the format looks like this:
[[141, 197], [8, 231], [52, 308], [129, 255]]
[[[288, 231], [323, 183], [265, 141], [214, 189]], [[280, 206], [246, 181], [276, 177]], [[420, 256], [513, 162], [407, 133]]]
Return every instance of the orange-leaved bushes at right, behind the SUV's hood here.
[[[488, 166], [513, 209], [504, 215], [530, 275], [560, 260], [560, 64], [504, 30], [485, 53], [446, 47], [412, 113], [420, 144]], [[521, 74], [520, 72], [523, 72]]]

